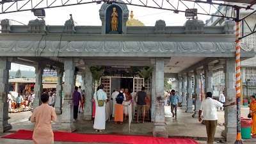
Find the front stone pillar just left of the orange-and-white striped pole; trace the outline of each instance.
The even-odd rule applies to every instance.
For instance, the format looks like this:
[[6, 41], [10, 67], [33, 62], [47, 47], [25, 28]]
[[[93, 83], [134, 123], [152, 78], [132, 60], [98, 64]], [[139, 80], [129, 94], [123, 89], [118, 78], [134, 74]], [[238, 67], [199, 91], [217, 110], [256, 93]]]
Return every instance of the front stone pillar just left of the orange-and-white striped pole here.
[[[225, 93], [226, 103], [236, 102], [236, 62], [235, 59], [228, 58], [224, 65], [225, 73]], [[225, 131], [223, 135], [227, 138], [227, 143], [236, 141], [236, 106], [225, 108]]]

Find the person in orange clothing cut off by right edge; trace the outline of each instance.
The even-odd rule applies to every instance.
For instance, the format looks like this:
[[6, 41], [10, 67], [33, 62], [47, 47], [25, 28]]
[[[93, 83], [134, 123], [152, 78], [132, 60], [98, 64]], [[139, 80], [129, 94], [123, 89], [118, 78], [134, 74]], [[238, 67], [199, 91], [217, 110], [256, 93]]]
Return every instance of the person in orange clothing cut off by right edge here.
[[256, 94], [251, 96], [250, 114], [252, 116], [252, 137], [256, 138]]

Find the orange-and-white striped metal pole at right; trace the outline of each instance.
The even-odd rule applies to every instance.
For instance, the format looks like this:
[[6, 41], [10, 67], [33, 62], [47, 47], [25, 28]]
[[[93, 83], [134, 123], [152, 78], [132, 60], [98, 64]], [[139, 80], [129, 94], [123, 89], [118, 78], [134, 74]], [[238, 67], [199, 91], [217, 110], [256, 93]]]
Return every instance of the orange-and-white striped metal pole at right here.
[[235, 144], [242, 144], [241, 138], [241, 40], [240, 37], [240, 10], [236, 8], [236, 109], [237, 109], [237, 136]]

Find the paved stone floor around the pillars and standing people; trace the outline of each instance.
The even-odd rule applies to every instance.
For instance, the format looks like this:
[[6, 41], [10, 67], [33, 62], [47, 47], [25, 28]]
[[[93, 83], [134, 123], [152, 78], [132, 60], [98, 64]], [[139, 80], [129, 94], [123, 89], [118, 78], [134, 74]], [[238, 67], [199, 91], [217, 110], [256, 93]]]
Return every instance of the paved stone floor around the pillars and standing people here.
[[[205, 125], [200, 124], [197, 118], [192, 118], [191, 113], [184, 113], [184, 109], [178, 110], [178, 118], [177, 120], [173, 119], [170, 113], [170, 107], [165, 108], [166, 113], [166, 129], [170, 137], [182, 137], [182, 138], [195, 138], [195, 140], [199, 140], [199, 143], [205, 144], [206, 132]], [[241, 115], [246, 116], [248, 113], [248, 108], [241, 108]], [[22, 112], [22, 113], [10, 113], [10, 122], [13, 126], [13, 129], [8, 131], [14, 132], [19, 129], [33, 129], [33, 124], [28, 121], [29, 116], [31, 115], [30, 111]], [[79, 114], [81, 115], [81, 114]], [[219, 124], [223, 124], [224, 122], [224, 112], [218, 111], [219, 116]], [[77, 127], [77, 131], [79, 133], [95, 133], [93, 130], [93, 122], [92, 121], [84, 121], [81, 116], [80, 119], [75, 123]], [[127, 122], [122, 125], [116, 125], [112, 121], [107, 122], [106, 124], [106, 132], [108, 134], [143, 134], [143, 135], [151, 135], [153, 123], [147, 122], [145, 124], [135, 124], [131, 125], [131, 133], [128, 130]], [[216, 131], [216, 141], [221, 138], [221, 131], [224, 129], [223, 125], [218, 125]], [[8, 134], [4, 133], [4, 134]], [[8, 140], [8, 139], [0, 139], [0, 143], [32, 143], [32, 141], [24, 141], [24, 140]], [[56, 142], [57, 144], [63, 142]], [[255, 143], [255, 141], [251, 142]], [[246, 142], [245, 144], [251, 144]], [[63, 144], [71, 144], [71, 143], [63, 143]], [[75, 143], [74, 143], [75, 144]], [[81, 143], [82, 144], [82, 143]]]

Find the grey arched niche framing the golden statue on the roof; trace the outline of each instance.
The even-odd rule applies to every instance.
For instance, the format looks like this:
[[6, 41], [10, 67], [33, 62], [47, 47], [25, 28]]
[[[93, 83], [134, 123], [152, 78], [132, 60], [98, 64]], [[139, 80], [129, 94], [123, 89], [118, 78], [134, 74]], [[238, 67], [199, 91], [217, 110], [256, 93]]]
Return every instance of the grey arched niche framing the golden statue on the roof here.
[[[119, 1], [118, 2], [123, 2]], [[113, 13], [113, 8], [116, 9], [118, 13], [118, 28], [117, 31], [112, 31], [111, 29], [111, 15]], [[113, 3], [113, 4], [102, 4], [99, 10], [100, 20], [102, 22], [102, 34], [121, 34], [126, 33], [126, 22], [129, 17], [129, 10], [125, 4]]]

